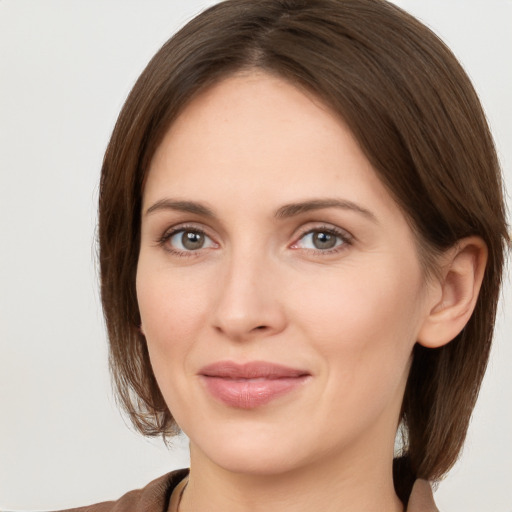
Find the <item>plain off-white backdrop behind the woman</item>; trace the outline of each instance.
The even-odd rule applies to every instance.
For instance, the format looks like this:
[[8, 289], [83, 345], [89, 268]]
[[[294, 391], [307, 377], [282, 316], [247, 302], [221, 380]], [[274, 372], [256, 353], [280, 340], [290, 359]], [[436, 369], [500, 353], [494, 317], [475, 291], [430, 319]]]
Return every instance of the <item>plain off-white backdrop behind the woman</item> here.
[[[188, 464], [133, 433], [112, 397], [95, 263], [98, 177], [139, 73], [207, 0], [0, 0], [0, 509], [114, 499]], [[472, 77], [512, 190], [512, 1], [402, 0]], [[512, 511], [512, 293], [451, 512]]]

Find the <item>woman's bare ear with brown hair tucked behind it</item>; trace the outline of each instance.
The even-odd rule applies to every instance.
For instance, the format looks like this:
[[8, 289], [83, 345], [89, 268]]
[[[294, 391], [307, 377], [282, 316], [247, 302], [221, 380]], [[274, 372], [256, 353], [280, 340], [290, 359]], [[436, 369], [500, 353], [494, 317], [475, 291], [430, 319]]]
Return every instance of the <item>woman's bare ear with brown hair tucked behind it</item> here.
[[443, 254], [441, 274], [418, 334], [420, 345], [438, 348], [462, 331], [475, 309], [487, 255], [487, 245], [476, 236], [459, 240]]

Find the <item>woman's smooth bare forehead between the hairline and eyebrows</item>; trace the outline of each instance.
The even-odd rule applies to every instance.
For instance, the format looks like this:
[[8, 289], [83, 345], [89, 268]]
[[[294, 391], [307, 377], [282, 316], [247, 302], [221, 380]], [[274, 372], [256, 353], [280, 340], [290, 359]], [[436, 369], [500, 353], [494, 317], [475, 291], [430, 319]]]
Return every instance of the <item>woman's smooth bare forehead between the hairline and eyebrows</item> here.
[[397, 210], [343, 120], [264, 72], [236, 74], [194, 98], [158, 147], [144, 192], [145, 205], [170, 194], [241, 211], [336, 195]]

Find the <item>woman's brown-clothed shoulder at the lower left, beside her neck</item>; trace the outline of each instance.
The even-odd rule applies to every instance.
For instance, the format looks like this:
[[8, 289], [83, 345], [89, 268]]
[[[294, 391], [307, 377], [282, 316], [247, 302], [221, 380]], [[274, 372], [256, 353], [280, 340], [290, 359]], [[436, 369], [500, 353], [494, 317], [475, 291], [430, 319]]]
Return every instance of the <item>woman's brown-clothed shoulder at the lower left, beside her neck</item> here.
[[188, 469], [172, 471], [142, 489], [126, 493], [117, 501], [106, 501], [59, 512], [162, 512], [167, 510], [174, 488], [187, 476]]

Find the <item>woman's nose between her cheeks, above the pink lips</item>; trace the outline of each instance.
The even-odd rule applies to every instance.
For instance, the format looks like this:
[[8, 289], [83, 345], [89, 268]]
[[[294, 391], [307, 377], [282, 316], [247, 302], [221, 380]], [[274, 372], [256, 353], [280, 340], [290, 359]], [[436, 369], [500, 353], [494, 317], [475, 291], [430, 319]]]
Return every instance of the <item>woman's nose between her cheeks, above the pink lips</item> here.
[[271, 336], [286, 326], [279, 287], [279, 269], [254, 255], [232, 256], [219, 275], [213, 327], [224, 336], [244, 341]]

